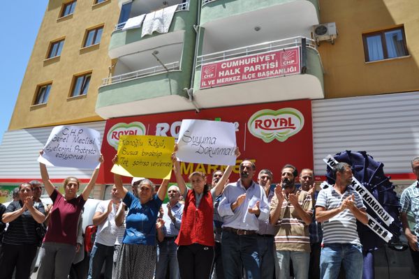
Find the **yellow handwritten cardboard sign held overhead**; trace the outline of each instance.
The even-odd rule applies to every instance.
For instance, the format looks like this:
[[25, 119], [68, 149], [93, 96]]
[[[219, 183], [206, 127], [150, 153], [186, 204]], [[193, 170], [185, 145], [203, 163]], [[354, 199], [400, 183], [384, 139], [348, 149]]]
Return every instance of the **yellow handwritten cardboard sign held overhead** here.
[[122, 135], [119, 137], [118, 162], [111, 172], [123, 176], [170, 179], [174, 137]]

